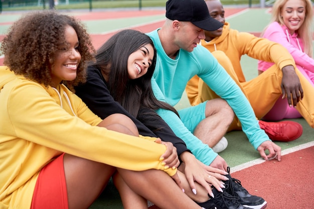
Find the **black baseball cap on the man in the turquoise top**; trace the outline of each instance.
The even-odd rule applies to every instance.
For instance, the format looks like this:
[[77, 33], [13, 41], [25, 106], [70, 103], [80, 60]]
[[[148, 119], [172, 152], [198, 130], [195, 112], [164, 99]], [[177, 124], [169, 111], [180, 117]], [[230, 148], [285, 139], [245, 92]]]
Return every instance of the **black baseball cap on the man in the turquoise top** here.
[[173, 21], [191, 22], [206, 31], [216, 31], [223, 26], [222, 23], [209, 15], [204, 0], [168, 0], [166, 18]]

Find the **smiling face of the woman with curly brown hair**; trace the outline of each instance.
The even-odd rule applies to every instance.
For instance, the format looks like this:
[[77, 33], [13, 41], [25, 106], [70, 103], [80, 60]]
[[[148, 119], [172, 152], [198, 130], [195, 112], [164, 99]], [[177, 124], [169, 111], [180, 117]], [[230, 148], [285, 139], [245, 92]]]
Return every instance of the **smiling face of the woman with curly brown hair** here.
[[61, 81], [73, 81], [81, 61], [78, 51], [79, 41], [75, 30], [71, 26], [67, 26], [64, 36], [67, 44], [59, 46], [54, 57], [54, 66], [51, 69], [52, 87], [57, 87]]

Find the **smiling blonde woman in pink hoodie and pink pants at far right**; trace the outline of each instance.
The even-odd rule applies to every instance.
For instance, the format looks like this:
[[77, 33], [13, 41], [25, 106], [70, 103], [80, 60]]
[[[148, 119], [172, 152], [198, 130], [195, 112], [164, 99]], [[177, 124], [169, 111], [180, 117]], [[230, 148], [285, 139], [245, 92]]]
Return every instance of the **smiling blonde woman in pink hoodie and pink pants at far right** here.
[[[276, 0], [272, 7], [270, 24], [264, 29], [262, 37], [284, 46], [308, 85], [314, 87], [312, 23], [313, 8], [310, 0]], [[258, 74], [272, 65], [270, 62], [258, 61]], [[302, 88], [303, 91], [308, 91], [306, 86], [302, 85]], [[295, 108], [290, 108], [286, 100], [279, 98], [264, 119], [277, 121], [299, 117], [302, 116]]]

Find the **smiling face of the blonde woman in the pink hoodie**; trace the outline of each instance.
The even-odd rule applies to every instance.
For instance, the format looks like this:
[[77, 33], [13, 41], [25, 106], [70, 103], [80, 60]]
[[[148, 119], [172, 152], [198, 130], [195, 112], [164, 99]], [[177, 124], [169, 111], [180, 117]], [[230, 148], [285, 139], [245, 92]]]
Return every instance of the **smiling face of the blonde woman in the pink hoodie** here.
[[288, 0], [283, 5], [280, 16], [292, 35], [304, 22], [305, 2], [303, 0]]

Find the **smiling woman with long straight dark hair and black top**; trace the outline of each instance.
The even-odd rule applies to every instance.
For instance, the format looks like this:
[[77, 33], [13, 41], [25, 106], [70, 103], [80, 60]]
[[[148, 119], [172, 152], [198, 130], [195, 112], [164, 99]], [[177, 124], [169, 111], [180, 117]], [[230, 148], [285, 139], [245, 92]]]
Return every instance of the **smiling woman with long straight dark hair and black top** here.
[[[125, 114], [135, 123], [140, 135], [160, 137], [163, 141], [172, 142], [183, 162], [178, 167], [181, 171], [178, 174], [185, 193], [196, 202], [208, 201], [208, 194], [214, 197], [214, 190], [222, 191], [224, 185], [220, 180], [227, 180], [224, 175], [228, 173], [197, 160], [183, 140], [154, 111], [164, 108], [178, 114], [175, 108], [153, 95], [150, 81], [155, 68], [156, 51], [151, 39], [135, 30], [122, 30], [97, 50], [95, 58], [96, 62], [87, 68], [86, 83], [75, 87], [76, 94], [88, 107], [101, 118], [113, 113]], [[211, 184], [214, 185], [213, 191]], [[131, 208], [127, 205], [131, 195], [123, 195], [127, 186], [120, 183], [116, 186], [123, 206]], [[145, 202], [142, 202], [145, 207]]]

